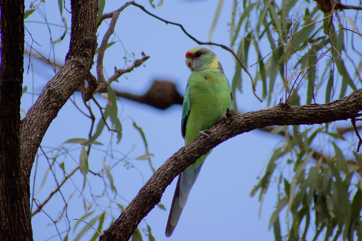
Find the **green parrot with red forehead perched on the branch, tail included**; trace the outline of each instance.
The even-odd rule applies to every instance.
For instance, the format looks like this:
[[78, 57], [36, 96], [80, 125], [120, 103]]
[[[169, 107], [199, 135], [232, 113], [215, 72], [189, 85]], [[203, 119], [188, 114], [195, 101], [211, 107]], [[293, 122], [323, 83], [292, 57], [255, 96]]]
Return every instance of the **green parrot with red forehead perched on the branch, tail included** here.
[[[203, 130], [211, 128], [225, 115], [227, 109], [231, 109], [232, 96], [229, 82], [214, 52], [207, 48], [191, 48], [185, 57], [186, 65], [191, 70], [181, 120], [181, 134], [186, 145], [199, 134], [207, 135]], [[190, 190], [210, 152], [211, 150], [178, 175], [166, 226], [166, 237], [170, 237], [175, 229]]]

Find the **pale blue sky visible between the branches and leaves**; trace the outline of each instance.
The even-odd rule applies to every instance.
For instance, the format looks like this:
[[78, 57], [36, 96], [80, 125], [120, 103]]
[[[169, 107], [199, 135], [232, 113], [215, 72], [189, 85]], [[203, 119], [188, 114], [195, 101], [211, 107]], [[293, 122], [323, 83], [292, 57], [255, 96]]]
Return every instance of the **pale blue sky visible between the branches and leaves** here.
[[[187, 31], [195, 38], [201, 41], [207, 41], [209, 29], [218, 1], [164, 1], [162, 7], [153, 9], [148, 1], [137, 1], [144, 5], [150, 12], [172, 22], [181, 23]], [[157, 1], [156, 1], [157, 3]], [[30, 2], [26, 1], [25, 10], [29, 9]], [[106, 3], [104, 13], [111, 12], [119, 8], [122, 3], [118, 1]], [[41, 5], [43, 6], [43, 4]], [[45, 12], [49, 23], [61, 23], [58, 4], [56, 1], [47, 1], [44, 4]], [[69, 2], [66, 1], [66, 7], [70, 9]], [[43, 7], [41, 7], [43, 8]], [[226, 1], [222, 10], [220, 20], [216, 26], [213, 42], [230, 45], [227, 23], [230, 22], [231, 1]], [[63, 10], [63, 17], [66, 17], [68, 27], [70, 27], [70, 14]], [[33, 44], [33, 47], [45, 56], [52, 56], [49, 46], [49, 32], [47, 25], [37, 23], [35, 21], [43, 21], [38, 12], [33, 13], [26, 21], [26, 27], [32, 34], [34, 40], [41, 45]], [[107, 21], [109, 23], [109, 21]], [[108, 26], [102, 23], [98, 31], [98, 43]], [[59, 38], [64, 29], [51, 26], [53, 40]], [[198, 46], [193, 40], [189, 39], [181, 29], [177, 26], [165, 25], [165, 23], [148, 16], [139, 8], [129, 6], [120, 14], [117, 25], [115, 27], [117, 36], [110, 41], [120, 42], [114, 44], [105, 52], [104, 69], [106, 74], [113, 74], [114, 66], [123, 68], [125, 61], [125, 51], [134, 53], [135, 58], [140, 58], [143, 51], [146, 55], [151, 56], [144, 64], [131, 73], [125, 74], [119, 78], [118, 83], [113, 83], [115, 90], [131, 92], [134, 94], [143, 94], [151, 86], [154, 79], [167, 79], [175, 82], [180, 93], [183, 95], [186, 87], [186, 81], [189, 77], [189, 70], [185, 65], [185, 53], [190, 48]], [[65, 55], [69, 47], [70, 35], [67, 34], [62, 42], [55, 45], [55, 60], [60, 64], [64, 63]], [[26, 41], [31, 43], [31, 38], [26, 33]], [[232, 55], [219, 47], [210, 47], [216, 53], [219, 61], [222, 63], [224, 72], [231, 81], [235, 63]], [[256, 59], [252, 53], [249, 59]], [[25, 70], [28, 69], [29, 58], [25, 57]], [[54, 72], [39, 60], [31, 60], [34, 63], [34, 72], [25, 73], [24, 86], [28, 86], [31, 92], [34, 88], [35, 93], [41, 92], [43, 86], [54, 76]], [[95, 68], [92, 73], [96, 76]], [[243, 112], [265, 108], [265, 103], [260, 103], [253, 96], [249, 79], [243, 73], [243, 94], [237, 94], [237, 102], [239, 110]], [[261, 94], [261, 93], [260, 93]], [[281, 96], [280, 96], [281, 97]], [[21, 108], [29, 109], [35, 97], [31, 94], [25, 94], [22, 98]], [[105, 100], [96, 95], [97, 100], [104, 106]], [[78, 106], [85, 110], [81, 104], [80, 93], [72, 96]], [[91, 103], [94, 113], [99, 111], [94, 103]], [[152, 158], [155, 168], [167, 160], [174, 152], [184, 145], [184, 139], [181, 137], [181, 112], [180, 105], [172, 106], [166, 110], [159, 110], [144, 104], [135, 103], [130, 100], [121, 99], [118, 103], [120, 119], [123, 126], [123, 139], [113, 148], [121, 153], [127, 153], [133, 149], [128, 155], [135, 158], [144, 154], [142, 139], [136, 130], [132, 127], [132, 120], [138, 126], [142, 127], [148, 141], [148, 149], [154, 154]], [[100, 116], [97, 116], [98, 122]], [[58, 117], [51, 123], [47, 131], [42, 145], [47, 147], [58, 147], [64, 141], [70, 138], [82, 137], [87, 138], [89, 131], [89, 120], [75, 108], [71, 102], [60, 110]], [[100, 137], [100, 141], [108, 143], [110, 133], [104, 130]], [[145, 218], [152, 228], [152, 234], [156, 240], [273, 240], [272, 230], [268, 230], [268, 222], [271, 213], [274, 210], [277, 198], [276, 184], [272, 189], [268, 190], [264, 204], [262, 206], [261, 217], [258, 217], [259, 205], [258, 194], [251, 198], [250, 191], [257, 184], [259, 175], [262, 175], [262, 169], [265, 161], [268, 160], [273, 148], [281, 141], [280, 137], [270, 136], [269, 134], [255, 130], [232, 138], [219, 146], [217, 146], [203, 165], [202, 171], [195, 183], [188, 203], [181, 215], [181, 219], [172, 234], [171, 238], [165, 237], [165, 226], [168, 218], [169, 208], [176, 186], [176, 181], [169, 185], [161, 199], [161, 203], [165, 205], [167, 211], [160, 208], [154, 208]], [[72, 154], [64, 159], [66, 171], [70, 172], [77, 165], [79, 159], [80, 146], [76, 148]], [[47, 149], [49, 150], [49, 149]], [[121, 156], [121, 154], [119, 154]], [[89, 156], [89, 167], [93, 171], [99, 171], [102, 168], [102, 160], [104, 154], [101, 151], [92, 151]], [[109, 159], [106, 159], [109, 161]], [[118, 190], [118, 194], [122, 195], [127, 201], [138, 193], [143, 183], [152, 175], [147, 162], [132, 160], [135, 168], [126, 169], [122, 165], [117, 165], [113, 170], [114, 185]], [[48, 164], [44, 158], [39, 158], [37, 175], [34, 178], [35, 190], [41, 185], [43, 175]], [[59, 171], [59, 170], [58, 170]], [[142, 176], [140, 173], [142, 173]], [[32, 180], [34, 177], [32, 172]], [[57, 173], [61, 180], [62, 173]], [[89, 184], [92, 190], [102, 188], [99, 178], [88, 174]], [[75, 191], [74, 185], [81, 189], [82, 176], [79, 171], [68, 181], [62, 188], [65, 197]], [[54, 178], [53, 178], [54, 179]], [[51, 176], [44, 188], [37, 194], [37, 198], [44, 200], [49, 191], [54, 189], [55, 183], [51, 181]], [[32, 185], [34, 183], [32, 182]], [[90, 193], [87, 184], [85, 194]], [[68, 218], [73, 226], [76, 220], [84, 214], [82, 199], [78, 198], [79, 192], [75, 191], [70, 205], [68, 206]], [[89, 199], [91, 201], [91, 199]], [[63, 201], [61, 195], [56, 194], [51, 201], [45, 206], [48, 214], [55, 216], [61, 211]], [[118, 216], [117, 210], [113, 211]], [[280, 216], [281, 222], [285, 220], [284, 216]], [[43, 213], [34, 216], [32, 220], [34, 240], [46, 240], [56, 233], [55, 226], [46, 225], [50, 219]], [[64, 230], [65, 222], [61, 221], [57, 224]], [[144, 227], [144, 223], [141, 223]], [[312, 226], [311, 226], [311, 229]], [[77, 233], [80, 228], [77, 229]], [[72, 232], [71, 232], [72, 233]], [[82, 240], [89, 240], [93, 231], [85, 234]], [[59, 240], [59, 237], [55, 237]], [[73, 238], [70, 238], [72, 240]], [[147, 238], [144, 238], [146, 240]]]

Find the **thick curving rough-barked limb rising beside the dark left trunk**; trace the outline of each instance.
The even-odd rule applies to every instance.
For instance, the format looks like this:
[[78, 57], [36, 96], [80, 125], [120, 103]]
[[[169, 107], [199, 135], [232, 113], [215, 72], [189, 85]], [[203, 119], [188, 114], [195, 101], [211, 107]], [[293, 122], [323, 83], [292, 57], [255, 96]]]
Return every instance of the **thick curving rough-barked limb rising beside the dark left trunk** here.
[[21, 160], [27, 177], [50, 123], [81, 83], [90, 78], [89, 70], [97, 47], [98, 1], [74, 0], [71, 9], [71, 41], [66, 63], [47, 83], [21, 123]]

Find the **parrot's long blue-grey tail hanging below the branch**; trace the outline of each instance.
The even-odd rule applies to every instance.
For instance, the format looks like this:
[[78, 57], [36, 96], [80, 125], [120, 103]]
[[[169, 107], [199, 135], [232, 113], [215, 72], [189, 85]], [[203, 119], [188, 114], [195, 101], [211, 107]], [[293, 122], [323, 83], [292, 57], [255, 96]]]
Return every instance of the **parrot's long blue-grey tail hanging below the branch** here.
[[197, 177], [199, 176], [203, 162], [193, 170], [193, 172], [187, 173], [185, 169], [178, 175], [175, 194], [173, 195], [170, 214], [168, 215], [168, 221], [166, 225], [166, 237], [170, 237], [173, 233], [178, 220], [180, 219], [182, 210], [184, 209], [187, 198], [189, 197], [190, 190], [195, 184]]

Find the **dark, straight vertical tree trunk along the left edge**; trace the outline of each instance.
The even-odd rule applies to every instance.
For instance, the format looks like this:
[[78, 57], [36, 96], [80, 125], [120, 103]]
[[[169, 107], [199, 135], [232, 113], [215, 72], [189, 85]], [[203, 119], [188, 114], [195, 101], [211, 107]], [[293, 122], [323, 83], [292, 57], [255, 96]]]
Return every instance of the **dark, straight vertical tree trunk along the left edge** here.
[[1, 1], [0, 240], [33, 240], [29, 182], [20, 159], [24, 1]]

